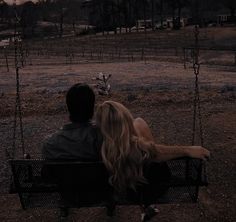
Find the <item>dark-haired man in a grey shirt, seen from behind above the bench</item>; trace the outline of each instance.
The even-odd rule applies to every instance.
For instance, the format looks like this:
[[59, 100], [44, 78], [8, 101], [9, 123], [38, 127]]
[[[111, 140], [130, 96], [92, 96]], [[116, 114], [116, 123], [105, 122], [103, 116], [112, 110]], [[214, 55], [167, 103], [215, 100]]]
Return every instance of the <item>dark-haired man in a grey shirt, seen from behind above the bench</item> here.
[[73, 85], [66, 95], [71, 123], [47, 138], [43, 145], [45, 159], [87, 160], [101, 159], [102, 136], [91, 122], [95, 94], [86, 84]]

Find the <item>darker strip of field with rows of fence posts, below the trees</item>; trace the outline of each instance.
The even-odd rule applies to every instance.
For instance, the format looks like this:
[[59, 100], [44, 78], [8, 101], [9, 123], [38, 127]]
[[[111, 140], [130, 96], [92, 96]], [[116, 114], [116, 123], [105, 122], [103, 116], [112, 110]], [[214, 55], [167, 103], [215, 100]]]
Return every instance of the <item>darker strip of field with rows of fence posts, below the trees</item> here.
[[[199, 36], [200, 62], [210, 65], [236, 65], [236, 49], [214, 45], [213, 37]], [[89, 35], [44, 38], [22, 41], [22, 65], [68, 65], [99, 62], [136, 62], [167, 60], [192, 63], [194, 36], [192, 31], [149, 34]], [[14, 45], [0, 50], [0, 67], [9, 71], [14, 66]]]

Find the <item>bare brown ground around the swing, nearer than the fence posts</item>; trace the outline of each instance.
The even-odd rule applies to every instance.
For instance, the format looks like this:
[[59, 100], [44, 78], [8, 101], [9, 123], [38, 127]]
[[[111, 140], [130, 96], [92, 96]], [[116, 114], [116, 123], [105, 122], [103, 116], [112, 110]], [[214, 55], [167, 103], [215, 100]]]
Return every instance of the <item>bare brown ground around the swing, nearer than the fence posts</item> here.
[[[76, 82], [94, 84], [98, 72], [112, 74], [112, 99], [124, 103], [135, 117], [150, 124], [156, 140], [164, 144], [191, 144], [194, 75], [179, 63], [133, 62], [58, 66], [27, 66], [21, 71], [21, 96], [26, 151], [40, 156], [43, 138], [68, 121], [64, 96]], [[202, 66], [199, 76], [204, 144], [211, 151], [207, 164], [209, 186], [202, 188], [198, 204], [160, 206], [152, 221], [233, 222], [235, 213], [236, 72], [233, 66]], [[9, 169], [5, 149], [11, 151], [15, 79], [1, 68], [0, 221], [57, 221], [58, 211], [23, 211], [17, 195], [7, 194]], [[16, 157], [21, 157], [21, 149]], [[139, 221], [137, 206], [119, 207], [114, 218], [103, 208], [72, 209], [71, 221]]]

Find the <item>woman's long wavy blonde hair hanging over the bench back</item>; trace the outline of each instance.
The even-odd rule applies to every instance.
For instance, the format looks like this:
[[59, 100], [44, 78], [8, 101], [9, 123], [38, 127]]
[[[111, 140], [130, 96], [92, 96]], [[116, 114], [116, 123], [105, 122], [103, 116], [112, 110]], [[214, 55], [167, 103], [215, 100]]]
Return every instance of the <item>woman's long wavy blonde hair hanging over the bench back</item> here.
[[104, 137], [102, 159], [111, 173], [113, 187], [124, 192], [145, 183], [143, 159], [146, 152], [139, 146], [130, 111], [118, 102], [106, 101], [97, 108], [96, 124]]

